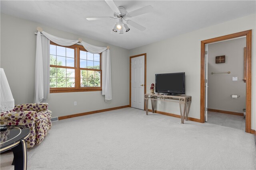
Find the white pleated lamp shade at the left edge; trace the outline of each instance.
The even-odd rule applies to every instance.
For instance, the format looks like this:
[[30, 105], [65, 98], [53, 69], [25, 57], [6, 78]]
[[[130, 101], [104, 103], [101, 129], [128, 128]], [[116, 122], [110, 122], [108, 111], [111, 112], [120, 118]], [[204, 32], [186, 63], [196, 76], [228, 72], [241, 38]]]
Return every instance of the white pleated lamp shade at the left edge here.
[[0, 70], [0, 112], [10, 111], [14, 108], [14, 98], [8, 84], [4, 69]]

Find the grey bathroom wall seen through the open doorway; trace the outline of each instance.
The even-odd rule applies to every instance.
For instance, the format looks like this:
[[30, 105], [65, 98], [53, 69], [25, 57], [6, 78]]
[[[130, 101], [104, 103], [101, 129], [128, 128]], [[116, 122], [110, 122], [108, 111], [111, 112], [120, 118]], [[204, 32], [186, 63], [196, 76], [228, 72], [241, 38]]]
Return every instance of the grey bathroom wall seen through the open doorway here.
[[[208, 45], [208, 108], [240, 113], [246, 108], [244, 47], [245, 37]], [[225, 55], [225, 63], [216, 64], [215, 57], [221, 55]], [[228, 71], [230, 74], [211, 74]], [[238, 77], [238, 81], [232, 81], [232, 77]], [[232, 94], [240, 98], [232, 99]]]

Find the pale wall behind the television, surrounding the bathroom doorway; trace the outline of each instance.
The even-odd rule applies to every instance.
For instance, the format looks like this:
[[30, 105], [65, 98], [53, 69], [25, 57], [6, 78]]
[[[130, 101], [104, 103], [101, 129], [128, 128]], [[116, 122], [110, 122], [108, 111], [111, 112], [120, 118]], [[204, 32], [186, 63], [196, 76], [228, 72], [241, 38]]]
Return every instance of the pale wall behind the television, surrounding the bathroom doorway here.
[[[178, 35], [163, 41], [131, 49], [129, 55], [147, 53], [147, 84], [155, 74], [186, 72], [186, 94], [192, 96], [190, 117], [200, 119], [200, 43], [202, 40], [252, 29], [252, 129], [255, 127], [255, 14], [211, 27]], [[168, 33], [166, 33], [168, 34]], [[147, 86], [149, 93], [149, 86]], [[157, 110], [179, 114], [178, 104], [161, 102]]]

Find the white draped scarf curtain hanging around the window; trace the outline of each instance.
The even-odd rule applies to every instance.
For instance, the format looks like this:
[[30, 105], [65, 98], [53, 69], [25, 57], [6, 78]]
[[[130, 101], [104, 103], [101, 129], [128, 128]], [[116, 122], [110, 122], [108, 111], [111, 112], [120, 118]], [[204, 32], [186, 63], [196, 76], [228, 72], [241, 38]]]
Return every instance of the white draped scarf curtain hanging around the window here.
[[[79, 42], [78, 40], [59, 38], [44, 31], [42, 34], [45, 36], [44, 40], [41, 40], [40, 31], [36, 37], [35, 103], [47, 99], [50, 93], [50, 41], [62, 46], [71, 46]], [[105, 101], [112, 100], [110, 50], [106, 47], [90, 45], [84, 41], [81, 44], [89, 53], [102, 53], [102, 95], [105, 95]]]

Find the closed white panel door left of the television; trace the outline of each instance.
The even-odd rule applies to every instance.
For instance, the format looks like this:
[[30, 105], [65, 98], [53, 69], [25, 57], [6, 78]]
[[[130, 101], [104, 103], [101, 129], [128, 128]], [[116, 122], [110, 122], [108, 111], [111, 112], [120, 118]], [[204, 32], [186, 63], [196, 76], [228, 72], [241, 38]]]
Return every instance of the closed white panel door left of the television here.
[[144, 109], [144, 55], [131, 59], [131, 107]]

